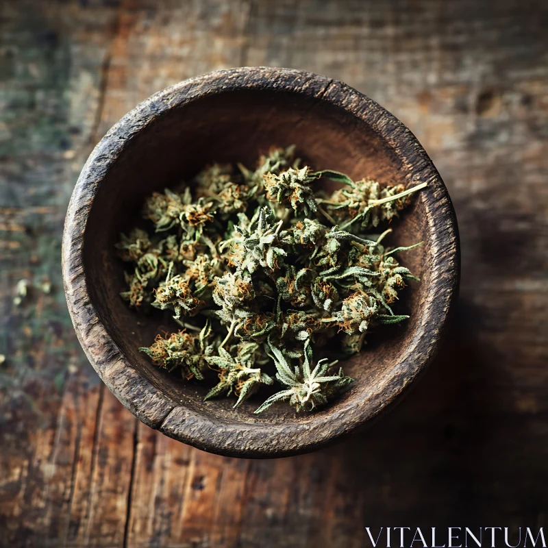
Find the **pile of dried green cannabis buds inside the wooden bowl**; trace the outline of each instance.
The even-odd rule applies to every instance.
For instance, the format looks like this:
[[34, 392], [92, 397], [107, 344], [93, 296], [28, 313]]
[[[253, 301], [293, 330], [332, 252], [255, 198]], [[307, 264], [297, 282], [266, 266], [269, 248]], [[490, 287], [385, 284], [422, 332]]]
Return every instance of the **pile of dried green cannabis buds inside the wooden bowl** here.
[[[321, 179], [342, 188], [325, 195]], [[424, 186], [313, 171], [287, 147], [256, 169], [214, 164], [182, 191], [153, 193], [142, 210], [151, 230], [116, 245], [131, 266], [121, 296], [168, 310], [184, 329], [140, 351], [209, 382], [206, 400], [234, 395], [238, 407], [276, 380], [282, 390], [256, 413], [277, 401], [297, 412], [325, 406], [352, 382], [329, 356], [359, 352], [371, 329], [408, 318], [391, 307], [417, 278], [395, 256], [415, 246], [387, 248], [391, 229], [371, 230]]]

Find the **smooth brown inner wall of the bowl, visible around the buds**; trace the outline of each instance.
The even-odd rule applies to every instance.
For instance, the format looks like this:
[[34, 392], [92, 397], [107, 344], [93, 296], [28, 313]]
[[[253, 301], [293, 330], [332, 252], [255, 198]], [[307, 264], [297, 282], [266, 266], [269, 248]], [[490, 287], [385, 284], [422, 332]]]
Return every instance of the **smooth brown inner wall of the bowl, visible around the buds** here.
[[410, 282], [396, 313], [411, 314], [403, 325], [386, 326], [368, 336], [360, 355], [343, 364], [356, 379], [331, 406], [314, 415], [295, 414], [289, 406], [253, 410], [260, 393], [233, 410], [234, 399], [203, 402], [208, 390], [151, 364], [138, 347], [151, 344], [155, 334], [177, 329], [162, 314], [145, 316], [129, 310], [119, 296], [124, 266], [114, 244], [138, 219], [142, 202], [153, 190], [175, 186], [212, 162], [254, 165], [272, 145], [295, 143], [298, 154], [314, 169], [334, 169], [353, 178], [372, 177], [382, 184], [407, 184], [406, 169], [393, 149], [369, 125], [321, 99], [295, 92], [231, 90], [200, 97], [160, 114], [128, 142], [101, 182], [92, 203], [84, 239], [84, 266], [90, 299], [108, 334], [141, 375], [179, 406], [208, 414], [213, 421], [238, 423], [308, 423], [334, 410], [344, 411], [378, 393], [395, 375], [408, 354], [421, 319], [421, 299], [429, 284], [429, 234], [423, 199], [419, 196], [387, 240], [394, 245], [424, 244], [401, 255], [401, 262], [421, 278]]

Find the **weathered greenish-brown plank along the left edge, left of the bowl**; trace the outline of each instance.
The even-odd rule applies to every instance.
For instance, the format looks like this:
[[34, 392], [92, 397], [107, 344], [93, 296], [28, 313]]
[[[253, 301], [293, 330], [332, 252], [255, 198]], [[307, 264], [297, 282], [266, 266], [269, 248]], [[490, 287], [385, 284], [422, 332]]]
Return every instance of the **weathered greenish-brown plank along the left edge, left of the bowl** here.
[[[1, 331], [9, 337], [1, 349], [0, 458], [1, 468], [18, 480], [2, 489], [7, 536], [0, 543], [70, 545], [71, 531], [89, 511], [92, 441], [104, 389], [65, 312], [59, 235], [75, 173], [94, 139], [103, 41], [116, 10], [36, 2], [2, 8], [0, 294], [9, 311]], [[12, 297], [22, 278], [30, 282], [29, 295], [16, 307]], [[42, 282], [51, 283], [51, 292], [40, 290]]]

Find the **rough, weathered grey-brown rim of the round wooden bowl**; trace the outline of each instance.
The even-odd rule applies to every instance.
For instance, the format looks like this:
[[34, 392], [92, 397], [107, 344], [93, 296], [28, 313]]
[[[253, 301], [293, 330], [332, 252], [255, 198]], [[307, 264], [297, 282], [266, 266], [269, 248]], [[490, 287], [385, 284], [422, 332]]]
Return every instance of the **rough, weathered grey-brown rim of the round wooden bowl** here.
[[[134, 369], [108, 334], [90, 299], [83, 268], [83, 235], [88, 215], [109, 166], [127, 141], [157, 116], [206, 93], [242, 88], [272, 92], [282, 88], [311, 95], [308, 90], [312, 84], [316, 90], [321, 86], [321, 92], [314, 95], [317, 100], [325, 100], [329, 90], [329, 101], [365, 121], [390, 144], [408, 172], [408, 184], [428, 182], [421, 199], [430, 220], [429, 253], [436, 278], [444, 280], [443, 287], [434, 286], [424, 303], [427, 308], [424, 321], [416, 329], [405, 366], [397, 368], [392, 381], [366, 405], [354, 401], [349, 409], [311, 416], [310, 421], [298, 424], [245, 424], [229, 420], [212, 423], [208, 416], [177, 405], [155, 388]], [[338, 93], [334, 94], [334, 90]], [[129, 137], [128, 127], [131, 127]], [[79, 341], [103, 382], [123, 405], [138, 419], [168, 436], [206, 451], [240, 457], [276, 457], [310, 451], [374, 419], [432, 361], [447, 326], [459, 276], [458, 232], [449, 194], [413, 134], [390, 112], [345, 84], [313, 73], [268, 67], [243, 67], [185, 80], [149, 97], [116, 123], [92, 151], [75, 186], [66, 215], [62, 263], [66, 299]], [[98, 347], [102, 347], [100, 353]]]

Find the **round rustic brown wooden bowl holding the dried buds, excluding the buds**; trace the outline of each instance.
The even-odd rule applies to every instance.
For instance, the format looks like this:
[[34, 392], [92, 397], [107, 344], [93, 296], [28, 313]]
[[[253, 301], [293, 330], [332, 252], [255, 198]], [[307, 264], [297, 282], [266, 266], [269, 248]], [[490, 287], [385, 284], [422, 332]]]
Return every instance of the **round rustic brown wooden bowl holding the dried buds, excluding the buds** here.
[[[395, 243], [419, 248], [402, 262], [421, 277], [386, 326], [345, 363], [356, 379], [314, 414], [256, 401], [203, 402], [207, 388], [154, 366], [149, 345], [164, 320], [129, 310], [119, 297], [123, 265], [114, 243], [153, 190], [211, 162], [253, 164], [271, 145], [295, 143], [314, 169], [383, 184], [428, 186], [395, 223]], [[105, 135], [75, 186], [63, 236], [63, 278], [73, 323], [90, 362], [142, 422], [199, 449], [239, 457], [279, 457], [316, 449], [375, 419], [432, 361], [458, 290], [455, 213], [438, 172], [412, 133], [358, 91], [301, 71], [242, 68], [192, 78], [140, 103]], [[164, 328], [171, 328], [169, 326]]]

